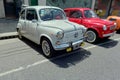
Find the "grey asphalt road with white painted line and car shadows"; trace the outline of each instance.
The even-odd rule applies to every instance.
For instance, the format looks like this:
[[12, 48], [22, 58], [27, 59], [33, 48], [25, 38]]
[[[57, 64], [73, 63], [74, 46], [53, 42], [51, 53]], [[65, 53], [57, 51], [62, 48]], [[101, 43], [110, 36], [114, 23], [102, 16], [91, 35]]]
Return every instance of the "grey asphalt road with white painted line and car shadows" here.
[[0, 40], [0, 80], [120, 80], [120, 34], [51, 59], [27, 39]]

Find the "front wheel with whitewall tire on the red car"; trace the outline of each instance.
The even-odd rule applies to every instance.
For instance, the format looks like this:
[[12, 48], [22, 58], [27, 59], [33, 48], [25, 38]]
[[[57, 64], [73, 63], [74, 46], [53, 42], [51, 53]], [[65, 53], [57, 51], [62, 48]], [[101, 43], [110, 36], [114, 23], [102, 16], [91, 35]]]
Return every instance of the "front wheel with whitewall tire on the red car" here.
[[96, 43], [98, 41], [98, 35], [93, 30], [88, 30], [85, 35], [87, 36], [86, 41], [89, 43]]

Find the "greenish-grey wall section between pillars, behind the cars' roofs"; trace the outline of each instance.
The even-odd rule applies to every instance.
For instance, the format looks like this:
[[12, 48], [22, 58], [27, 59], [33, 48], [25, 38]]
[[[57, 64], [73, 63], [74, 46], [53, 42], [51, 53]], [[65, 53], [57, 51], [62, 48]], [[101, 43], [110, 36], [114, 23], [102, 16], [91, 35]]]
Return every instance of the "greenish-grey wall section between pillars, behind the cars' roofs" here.
[[[88, 7], [91, 8], [93, 0], [47, 0], [46, 4], [49, 6], [57, 6], [60, 8], [68, 7]], [[71, 4], [72, 3], [72, 4]]]

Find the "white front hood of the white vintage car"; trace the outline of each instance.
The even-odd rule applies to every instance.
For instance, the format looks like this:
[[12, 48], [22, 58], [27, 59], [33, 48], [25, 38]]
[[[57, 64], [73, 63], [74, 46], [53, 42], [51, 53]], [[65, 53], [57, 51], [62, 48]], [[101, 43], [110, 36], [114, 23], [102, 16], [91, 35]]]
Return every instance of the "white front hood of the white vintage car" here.
[[80, 25], [70, 22], [68, 20], [52, 20], [41, 22], [42, 26], [61, 29], [65, 32], [81, 29]]

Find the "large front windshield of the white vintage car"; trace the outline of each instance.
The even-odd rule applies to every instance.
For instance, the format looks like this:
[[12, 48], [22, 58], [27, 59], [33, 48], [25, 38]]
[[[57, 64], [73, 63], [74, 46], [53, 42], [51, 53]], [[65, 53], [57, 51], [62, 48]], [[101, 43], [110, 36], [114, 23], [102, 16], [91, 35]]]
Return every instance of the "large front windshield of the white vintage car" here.
[[66, 19], [66, 16], [62, 10], [54, 8], [41, 9], [39, 11], [39, 15], [43, 21]]

